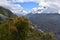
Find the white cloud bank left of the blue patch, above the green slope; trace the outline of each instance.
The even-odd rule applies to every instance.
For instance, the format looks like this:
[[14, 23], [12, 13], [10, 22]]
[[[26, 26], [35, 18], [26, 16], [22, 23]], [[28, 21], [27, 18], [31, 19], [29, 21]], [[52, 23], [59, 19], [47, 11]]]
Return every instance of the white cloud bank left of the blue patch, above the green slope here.
[[[25, 15], [27, 12], [23, 10], [23, 7], [19, 4], [14, 4], [13, 2], [17, 0], [0, 0], [0, 6], [3, 6], [17, 15]], [[23, 14], [25, 12], [25, 14]]]

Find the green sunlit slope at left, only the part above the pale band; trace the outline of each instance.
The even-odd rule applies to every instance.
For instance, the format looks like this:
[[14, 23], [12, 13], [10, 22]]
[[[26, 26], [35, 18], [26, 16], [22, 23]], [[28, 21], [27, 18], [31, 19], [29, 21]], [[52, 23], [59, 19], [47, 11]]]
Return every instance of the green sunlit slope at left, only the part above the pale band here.
[[7, 16], [9, 18], [13, 18], [13, 17], [16, 17], [15, 14], [13, 14], [10, 10], [4, 8], [4, 7], [1, 7], [0, 6], [0, 14], [4, 15], [4, 16]]

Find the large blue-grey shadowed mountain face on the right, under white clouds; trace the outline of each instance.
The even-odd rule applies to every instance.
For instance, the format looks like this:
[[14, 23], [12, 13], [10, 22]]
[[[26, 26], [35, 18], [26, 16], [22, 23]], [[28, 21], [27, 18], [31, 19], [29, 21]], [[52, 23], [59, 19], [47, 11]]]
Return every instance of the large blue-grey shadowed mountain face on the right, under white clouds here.
[[32, 24], [45, 32], [53, 32], [57, 40], [60, 40], [60, 14], [28, 14]]

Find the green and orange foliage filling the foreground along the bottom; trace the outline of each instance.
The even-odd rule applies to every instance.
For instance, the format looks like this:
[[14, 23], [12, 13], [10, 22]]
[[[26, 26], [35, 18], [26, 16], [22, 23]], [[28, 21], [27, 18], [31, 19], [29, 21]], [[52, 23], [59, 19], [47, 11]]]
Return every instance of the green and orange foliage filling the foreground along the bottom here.
[[4, 20], [0, 24], [0, 40], [55, 40], [52, 33], [42, 33], [32, 29], [25, 17]]

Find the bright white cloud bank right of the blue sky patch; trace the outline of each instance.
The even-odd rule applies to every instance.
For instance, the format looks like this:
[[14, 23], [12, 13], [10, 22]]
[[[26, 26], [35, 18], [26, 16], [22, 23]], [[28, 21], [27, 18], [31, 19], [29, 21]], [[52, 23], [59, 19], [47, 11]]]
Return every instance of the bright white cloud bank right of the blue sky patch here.
[[39, 3], [40, 7], [46, 7], [44, 10], [42, 10], [42, 13], [60, 13], [59, 11], [60, 0], [35, 0], [35, 1]]

